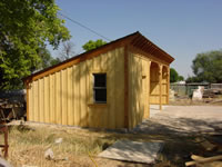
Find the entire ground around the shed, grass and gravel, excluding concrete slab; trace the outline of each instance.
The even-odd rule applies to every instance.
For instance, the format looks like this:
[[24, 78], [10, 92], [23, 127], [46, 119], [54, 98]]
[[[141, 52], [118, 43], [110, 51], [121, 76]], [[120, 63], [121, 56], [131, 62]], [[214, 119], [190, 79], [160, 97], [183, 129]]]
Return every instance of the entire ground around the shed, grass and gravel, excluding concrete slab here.
[[[151, 106], [151, 118], [130, 131], [107, 131], [69, 126], [13, 121], [9, 125], [9, 158], [16, 167], [182, 167], [192, 154], [208, 157], [222, 154], [222, 147], [208, 149], [202, 143], [222, 139], [222, 107]], [[61, 144], [54, 140], [62, 138]], [[119, 139], [163, 143], [155, 164], [134, 164], [98, 158]], [[1, 140], [2, 143], [2, 140]], [[44, 158], [51, 148], [54, 158]]]

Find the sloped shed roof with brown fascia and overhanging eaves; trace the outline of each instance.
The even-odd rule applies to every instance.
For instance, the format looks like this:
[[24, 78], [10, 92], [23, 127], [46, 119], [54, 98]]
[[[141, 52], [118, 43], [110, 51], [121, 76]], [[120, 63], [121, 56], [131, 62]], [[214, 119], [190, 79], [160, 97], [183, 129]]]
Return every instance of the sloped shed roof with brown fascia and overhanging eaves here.
[[115, 48], [124, 47], [127, 45], [131, 45], [134, 49], [143, 51], [142, 56], [147, 56], [147, 53], [149, 53], [152, 56], [152, 59], [159, 59], [160, 61], [163, 60], [168, 65], [174, 60], [174, 58], [172, 58], [169, 53], [167, 53], [161, 48], [159, 48], [158, 46], [152, 43], [149, 39], [143, 37], [140, 32], [134, 32], [132, 35], [120, 38], [115, 41], [112, 41], [108, 45], [104, 45], [98, 49], [81, 53], [81, 55], [75, 56], [69, 60], [65, 60], [59, 65], [56, 65], [53, 67], [47, 68], [37, 73], [33, 73], [33, 75], [24, 78], [23, 80], [33, 81], [33, 80], [40, 79], [48, 75], [54, 73], [57, 71], [60, 71], [62, 69], [73, 66], [73, 65], [80, 63], [88, 59], [92, 59], [94, 57], [98, 57], [101, 53], [105, 53], [110, 50], [114, 50]]

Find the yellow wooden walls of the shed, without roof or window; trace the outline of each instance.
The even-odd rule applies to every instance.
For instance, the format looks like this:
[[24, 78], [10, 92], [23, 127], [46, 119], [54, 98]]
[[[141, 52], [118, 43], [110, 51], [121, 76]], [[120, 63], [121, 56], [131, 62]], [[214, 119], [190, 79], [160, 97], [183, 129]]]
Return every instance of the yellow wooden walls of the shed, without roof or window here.
[[[115, 48], [30, 82], [33, 121], [118, 129], [133, 128], [148, 118], [150, 88], [159, 79], [150, 68], [152, 59], [130, 50]], [[107, 73], [105, 105], [93, 101], [97, 72]], [[155, 79], [150, 82], [153, 75]], [[167, 82], [163, 79], [162, 101], [168, 98]], [[159, 94], [160, 87], [154, 87], [154, 101], [160, 101]]]

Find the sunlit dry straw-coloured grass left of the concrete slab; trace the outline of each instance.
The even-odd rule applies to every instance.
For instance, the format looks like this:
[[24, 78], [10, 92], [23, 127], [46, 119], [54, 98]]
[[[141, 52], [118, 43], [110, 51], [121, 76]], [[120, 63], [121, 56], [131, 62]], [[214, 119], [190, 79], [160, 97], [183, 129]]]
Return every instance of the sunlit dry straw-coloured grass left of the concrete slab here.
[[[9, 125], [9, 158], [17, 166], [29, 165], [39, 167], [52, 166], [94, 166], [90, 156], [98, 166], [124, 166], [128, 163], [101, 159], [95, 156], [118, 139], [158, 140], [160, 136], [117, 134], [81, 129], [67, 126], [46, 124]], [[54, 140], [62, 138], [61, 144]], [[2, 143], [2, 141], [1, 141]], [[51, 148], [54, 160], [44, 158], [44, 151]], [[134, 164], [128, 164], [134, 166]], [[137, 165], [143, 166], [143, 165]]]

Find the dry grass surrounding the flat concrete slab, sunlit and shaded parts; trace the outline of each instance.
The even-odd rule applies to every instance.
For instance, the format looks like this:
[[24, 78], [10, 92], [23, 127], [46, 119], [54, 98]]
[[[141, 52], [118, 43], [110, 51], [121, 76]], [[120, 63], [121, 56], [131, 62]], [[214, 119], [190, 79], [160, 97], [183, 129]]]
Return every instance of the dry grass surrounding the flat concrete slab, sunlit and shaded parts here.
[[[12, 124], [9, 132], [9, 158], [16, 167], [28, 165], [38, 167], [145, 167], [144, 164], [124, 163], [118, 160], [97, 158], [97, 155], [118, 139], [131, 139], [140, 141], [164, 141], [164, 148], [154, 167], [184, 166], [191, 154], [202, 153], [195, 137], [176, 137], [169, 135], [133, 135], [73, 127], [52, 126], [43, 124]], [[61, 144], [54, 140], [62, 138]], [[1, 141], [2, 143], [2, 141]], [[53, 160], [44, 158], [44, 151], [51, 148]]]

